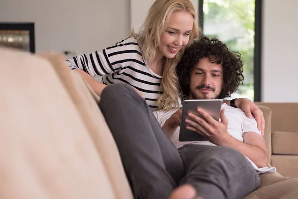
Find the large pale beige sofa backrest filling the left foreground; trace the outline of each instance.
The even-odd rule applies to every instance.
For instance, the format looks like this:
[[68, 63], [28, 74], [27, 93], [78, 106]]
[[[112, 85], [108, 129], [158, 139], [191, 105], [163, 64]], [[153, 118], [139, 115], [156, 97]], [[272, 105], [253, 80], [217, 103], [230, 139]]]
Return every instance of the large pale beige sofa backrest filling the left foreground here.
[[115, 199], [80, 114], [49, 62], [0, 48], [0, 198]]

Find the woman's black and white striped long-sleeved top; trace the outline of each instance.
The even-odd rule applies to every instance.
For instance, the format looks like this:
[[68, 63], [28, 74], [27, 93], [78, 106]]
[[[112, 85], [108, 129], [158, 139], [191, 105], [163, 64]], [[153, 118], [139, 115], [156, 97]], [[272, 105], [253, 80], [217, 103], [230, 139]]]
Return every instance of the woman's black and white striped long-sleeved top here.
[[67, 65], [82, 69], [92, 77], [103, 76], [102, 83], [109, 85], [125, 82], [137, 88], [150, 109], [156, 110], [156, 100], [161, 95], [162, 76], [146, 65], [136, 38], [129, 37], [114, 46], [68, 59]]

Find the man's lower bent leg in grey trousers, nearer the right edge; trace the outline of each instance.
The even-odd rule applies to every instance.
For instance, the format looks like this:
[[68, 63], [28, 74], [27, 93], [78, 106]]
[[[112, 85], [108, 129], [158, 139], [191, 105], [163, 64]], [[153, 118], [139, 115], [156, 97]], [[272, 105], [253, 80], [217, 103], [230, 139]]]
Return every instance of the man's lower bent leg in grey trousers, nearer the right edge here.
[[186, 175], [204, 199], [242, 199], [260, 186], [259, 175], [237, 150], [225, 146], [186, 145], [180, 150]]

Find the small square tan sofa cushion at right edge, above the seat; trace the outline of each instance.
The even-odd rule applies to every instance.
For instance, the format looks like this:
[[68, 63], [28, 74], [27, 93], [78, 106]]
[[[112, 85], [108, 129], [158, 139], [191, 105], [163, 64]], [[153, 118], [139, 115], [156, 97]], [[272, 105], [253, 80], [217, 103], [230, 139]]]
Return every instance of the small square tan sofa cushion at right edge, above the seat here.
[[282, 155], [298, 155], [298, 133], [273, 132], [272, 153]]

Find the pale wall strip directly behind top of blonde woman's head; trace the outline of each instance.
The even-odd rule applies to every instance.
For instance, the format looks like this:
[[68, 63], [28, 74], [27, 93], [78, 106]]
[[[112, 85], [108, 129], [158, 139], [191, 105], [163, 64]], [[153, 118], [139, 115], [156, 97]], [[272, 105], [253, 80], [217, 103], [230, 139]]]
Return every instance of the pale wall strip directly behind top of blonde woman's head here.
[[[138, 32], [155, 0], [130, 0], [130, 28]], [[198, 13], [199, 0], [191, 0]]]

